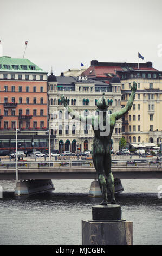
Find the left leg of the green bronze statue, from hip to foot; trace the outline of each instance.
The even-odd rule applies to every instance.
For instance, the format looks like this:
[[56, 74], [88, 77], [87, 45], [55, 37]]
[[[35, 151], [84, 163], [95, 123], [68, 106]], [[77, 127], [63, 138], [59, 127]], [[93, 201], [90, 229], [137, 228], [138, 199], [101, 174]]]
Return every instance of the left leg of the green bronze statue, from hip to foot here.
[[103, 156], [94, 155], [93, 162], [94, 162], [96, 172], [98, 173], [99, 185], [100, 185], [102, 196], [103, 196], [103, 201], [100, 204], [107, 205], [108, 204], [107, 185], [106, 185], [106, 180], [104, 176]]

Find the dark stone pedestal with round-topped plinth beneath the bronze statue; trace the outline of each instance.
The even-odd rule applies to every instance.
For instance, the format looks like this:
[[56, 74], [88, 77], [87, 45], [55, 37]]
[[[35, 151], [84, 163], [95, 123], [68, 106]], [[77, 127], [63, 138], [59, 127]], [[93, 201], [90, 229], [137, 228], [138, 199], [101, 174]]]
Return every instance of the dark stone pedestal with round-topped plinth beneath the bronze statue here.
[[82, 220], [82, 245], [133, 245], [133, 222], [121, 218], [120, 205], [92, 206], [92, 220]]

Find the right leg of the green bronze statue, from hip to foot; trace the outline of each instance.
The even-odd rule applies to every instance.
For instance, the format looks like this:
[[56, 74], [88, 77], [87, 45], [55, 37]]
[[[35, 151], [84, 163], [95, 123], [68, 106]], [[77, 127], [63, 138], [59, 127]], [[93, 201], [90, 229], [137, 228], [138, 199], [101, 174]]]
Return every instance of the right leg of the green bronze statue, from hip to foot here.
[[105, 174], [106, 174], [106, 178], [107, 178], [107, 186], [111, 193], [111, 204], [116, 204], [114, 177], [111, 172], [111, 166], [112, 166], [111, 153], [107, 153], [105, 156], [105, 161], [104, 161], [104, 169], [105, 169]]

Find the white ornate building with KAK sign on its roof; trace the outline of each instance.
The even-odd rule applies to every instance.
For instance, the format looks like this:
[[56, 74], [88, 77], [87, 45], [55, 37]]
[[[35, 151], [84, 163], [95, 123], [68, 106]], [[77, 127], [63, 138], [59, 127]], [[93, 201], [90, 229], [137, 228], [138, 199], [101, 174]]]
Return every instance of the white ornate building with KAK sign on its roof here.
[[[94, 132], [90, 125], [75, 123], [60, 100], [61, 94], [67, 97], [68, 105], [82, 115], [95, 114], [97, 100], [105, 92], [109, 103], [109, 113], [121, 109], [121, 83], [115, 78], [112, 84], [102, 83], [86, 76], [72, 77], [48, 76], [48, 118], [51, 134], [56, 135], [54, 148], [62, 151], [77, 152], [92, 147]], [[55, 126], [56, 125], [56, 126]], [[121, 120], [116, 122], [112, 135], [112, 148], [118, 150], [121, 138]]]

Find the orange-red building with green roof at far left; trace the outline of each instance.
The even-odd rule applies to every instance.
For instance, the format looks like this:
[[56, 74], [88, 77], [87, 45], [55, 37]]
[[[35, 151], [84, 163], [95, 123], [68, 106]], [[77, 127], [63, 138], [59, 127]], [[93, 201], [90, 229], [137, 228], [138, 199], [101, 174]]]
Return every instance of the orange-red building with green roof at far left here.
[[[47, 130], [47, 72], [28, 59], [0, 57], [0, 147], [14, 147], [9, 141], [17, 128], [22, 135]], [[21, 147], [24, 147], [24, 139]], [[38, 141], [37, 146], [47, 145]], [[31, 139], [26, 146], [31, 146]]]

